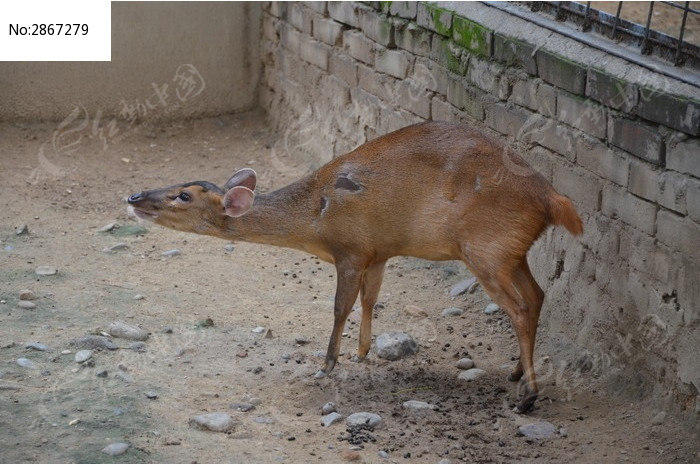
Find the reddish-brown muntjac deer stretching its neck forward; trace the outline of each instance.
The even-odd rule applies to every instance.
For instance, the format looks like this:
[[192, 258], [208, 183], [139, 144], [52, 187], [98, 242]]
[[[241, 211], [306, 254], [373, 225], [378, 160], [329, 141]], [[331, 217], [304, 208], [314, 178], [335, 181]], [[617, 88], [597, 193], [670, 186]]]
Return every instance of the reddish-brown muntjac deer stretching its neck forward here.
[[172, 229], [295, 248], [337, 271], [335, 322], [325, 365], [333, 370], [345, 321], [362, 302], [357, 357], [371, 344], [372, 310], [392, 256], [462, 260], [508, 314], [520, 360], [517, 412], [537, 398], [535, 333], [544, 293], [526, 254], [549, 225], [581, 234], [571, 201], [522, 158], [464, 125], [428, 122], [392, 132], [284, 188], [255, 195], [252, 169], [223, 188], [189, 182], [136, 193], [133, 213]]

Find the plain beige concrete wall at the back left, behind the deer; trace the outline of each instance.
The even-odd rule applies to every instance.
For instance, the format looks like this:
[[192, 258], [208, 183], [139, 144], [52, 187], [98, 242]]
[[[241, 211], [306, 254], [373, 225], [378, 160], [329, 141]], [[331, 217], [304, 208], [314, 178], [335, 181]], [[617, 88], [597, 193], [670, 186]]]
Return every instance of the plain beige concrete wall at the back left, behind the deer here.
[[0, 63], [0, 120], [61, 121], [78, 105], [124, 119], [251, 109], [259, 18], [259, 3], [112, 2], [112, 61]]

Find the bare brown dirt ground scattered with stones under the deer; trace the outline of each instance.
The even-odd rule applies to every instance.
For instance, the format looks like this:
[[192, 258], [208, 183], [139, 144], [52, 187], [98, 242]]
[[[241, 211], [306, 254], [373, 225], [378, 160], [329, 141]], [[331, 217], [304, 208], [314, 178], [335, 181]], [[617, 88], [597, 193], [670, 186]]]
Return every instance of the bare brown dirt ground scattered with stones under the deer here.
[[[111, 132], [71, 127], [0, 125], [1, 462], [700, 460], [697, 429], [671, 413], [660, 418], [653, 401], [612, 396], [585, 374], [551, 375], [541, 348], [540, 400], [529, 415], [513, 413], [510, 323], [501, 312], [484, 314], [489, 300], [480, 288], [449, 297], [467, 277], [459, 263], [397, 258], [387, 268], [373, 332], [412, 334], [417, 355], [390, 362], [372, 351], [365, 362], [351, 362], [359, 329], [353, 313], [340, 363], [315, 379], [332, 327], [332, 266], [254, 244], [229, 251], [224, 241], [157, 226], [127, 234], [137, 225], [124, 204], [132, 192], [190, 180], [221, 184], [245, 166], [258, 171], [258, 189], [266, 191], [307, 172], [283, 137], [256, 113]], [[98, 232], [112, 222], [121, 227]], [[16, 235], [24, 224], [28, 234]], [[127, 248], [102, 251], [119, 242]], [[172, 249], [180, 255], [162, 255]], [[58, 273], [37, 276], [38, 266]], [[36, 308], [18, 307], [22, 289], [36, 293]], [[453, 306], [464, 314], [441, 315]], [[212, 326], [202, 323], [207, 318]], [[77, 364], [70, 342], [113, 321], [150, 332], [145, 352], [115, 338], [120, 349], [95, 351], [92, 366]], [[272, 338], [254, 333], [258, 326]], [[26, 349], [28, 342], [49, 351]], [[474, 382], [457, 379], [456, 361], [467, 355], [487, 372]], [[20, 367], [18, 358], [35, 368]], [[106, 377], [96, 375], [104, 370]], [[251, 399], [259, 403], [252, 411], [231, 408]], [[404, 409], [407, 400], [437, 409]], [[377, 413], [384, 427], [351, 444], [344, 422], [322, 427], [328, 401], [345, 416]], [[233, 416], [231, 433], [190, 425], [215, 411]], [[565, 436], [518, 436], [518, 426], [538, 420]], [[131, 448], [118, 457], [100, 452], [113, 442]]]

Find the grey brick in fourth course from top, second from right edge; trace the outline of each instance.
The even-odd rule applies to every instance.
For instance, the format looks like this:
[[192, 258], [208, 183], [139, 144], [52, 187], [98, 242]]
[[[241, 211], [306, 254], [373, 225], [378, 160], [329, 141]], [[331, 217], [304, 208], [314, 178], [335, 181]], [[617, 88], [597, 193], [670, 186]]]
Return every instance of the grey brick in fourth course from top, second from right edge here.
[[654, 235], [657, 207], [629, 192], [608, 184], [603, 187], [603, 214], [620, 219], [648, 235]]

